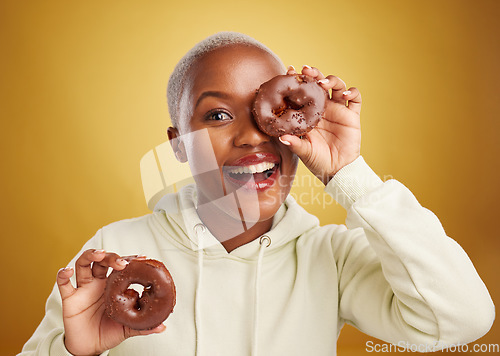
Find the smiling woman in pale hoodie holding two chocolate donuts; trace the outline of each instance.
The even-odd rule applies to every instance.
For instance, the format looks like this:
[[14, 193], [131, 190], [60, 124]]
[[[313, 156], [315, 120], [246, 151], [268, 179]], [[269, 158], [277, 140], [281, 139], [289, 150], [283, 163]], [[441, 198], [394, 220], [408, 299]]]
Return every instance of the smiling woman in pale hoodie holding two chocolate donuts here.
[[[429, 351], [489, 330], [494, 306], [466, 253], [360, 156], [356, 88], [304, 66], [329, 93], [324, 119], [302, 138], [258, 129], [256, 90], [285, 73], [296, 72], [237, 33], [185, 55], [169, 81], [168, 136], [196, 184], [99, 230], [59, 271], [23, 354], [330, 356], [344, 323]], [[320, 227], [288, 195], [298, 159], [347, 209], [346, 226]], [[108, 268], [137, 254], [176, 283], [166, 327], [135, 331], [104, 313]]]

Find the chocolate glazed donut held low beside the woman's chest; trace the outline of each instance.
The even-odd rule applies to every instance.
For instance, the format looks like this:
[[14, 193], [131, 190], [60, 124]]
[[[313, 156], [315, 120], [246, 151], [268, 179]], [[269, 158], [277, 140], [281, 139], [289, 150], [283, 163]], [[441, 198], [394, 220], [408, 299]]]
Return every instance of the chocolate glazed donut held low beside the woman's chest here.
[[[142, 284], [142, 296], [129, 286]], [[104, 291], [107, 315], [136, 330], [160, 325], [175, 305], [175, 285], [163, 263], [152, 259], [132, 259], [121, 271], [113, 271]]]

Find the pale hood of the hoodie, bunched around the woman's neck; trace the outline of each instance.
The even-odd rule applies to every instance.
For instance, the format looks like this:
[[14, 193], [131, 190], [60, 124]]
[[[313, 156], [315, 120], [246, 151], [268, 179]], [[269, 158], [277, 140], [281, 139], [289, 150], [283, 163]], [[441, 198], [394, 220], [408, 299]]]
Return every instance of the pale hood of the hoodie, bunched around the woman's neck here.
[[[165, 195], [155, 206], [154, 212], [163, 215], [162, 217], [167, 220], [166, 223], [177, 230], [176, 236], [172, 237], [187, 249], [192, 251], [202, 249], [206, 255], [213, 257], [230, 255], [248, 260], [257, 259], [260, 248], [258, 238], [228, 253], [205, 227], [196, 212], [196, 205], [196, 185], [190, 184], [177, 193]], [[265, 234], [270, 240], [266, 255], [272, 254], [288, 242], [318, 226], [318, 219], [307, 213], [289, 195], [274, 215], [271, 230]], [[200, 239], [201, 235], [203, 235], [203, 240]]]

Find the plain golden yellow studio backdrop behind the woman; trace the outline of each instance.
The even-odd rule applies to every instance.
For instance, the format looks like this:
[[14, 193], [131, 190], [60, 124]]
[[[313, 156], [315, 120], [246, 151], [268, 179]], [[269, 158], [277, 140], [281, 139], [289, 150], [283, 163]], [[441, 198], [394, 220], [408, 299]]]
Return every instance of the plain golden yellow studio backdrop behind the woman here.
[[[495, 0], [1, 1], [0, 353], [21, 350], [86, 240], [148, 213], [139, 162], [166, 141], [169, 74], [221, 30], [358, 87], [365, 159], [438, 215], [500, 305], [499, 18]], [[342, 223], [307, 175], [293, 193]], [[339, 354], [367, 340], [346, 327]]]

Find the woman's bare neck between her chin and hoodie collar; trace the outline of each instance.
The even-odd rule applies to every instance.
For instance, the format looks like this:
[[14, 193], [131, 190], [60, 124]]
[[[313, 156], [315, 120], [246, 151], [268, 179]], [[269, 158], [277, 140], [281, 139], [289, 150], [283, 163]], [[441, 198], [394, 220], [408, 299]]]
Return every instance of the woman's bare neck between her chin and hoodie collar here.
[[245, 222], [235, 219], [215, 204], [199, 204], [196, 209], [203, 224], [220, 241], [227, 252], [255, 240], [271, 229], [273, 219]]

